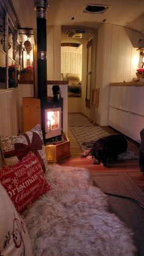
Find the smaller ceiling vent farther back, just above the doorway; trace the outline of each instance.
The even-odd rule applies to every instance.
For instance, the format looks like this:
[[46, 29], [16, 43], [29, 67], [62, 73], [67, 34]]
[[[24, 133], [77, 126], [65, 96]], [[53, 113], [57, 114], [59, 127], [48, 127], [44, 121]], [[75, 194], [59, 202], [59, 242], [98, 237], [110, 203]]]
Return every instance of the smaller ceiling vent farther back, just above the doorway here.
[[91, 31], [85, 29], [69, 29], [65, 32], [67, 37], [72, 38], [84, 38], [90, 35]]

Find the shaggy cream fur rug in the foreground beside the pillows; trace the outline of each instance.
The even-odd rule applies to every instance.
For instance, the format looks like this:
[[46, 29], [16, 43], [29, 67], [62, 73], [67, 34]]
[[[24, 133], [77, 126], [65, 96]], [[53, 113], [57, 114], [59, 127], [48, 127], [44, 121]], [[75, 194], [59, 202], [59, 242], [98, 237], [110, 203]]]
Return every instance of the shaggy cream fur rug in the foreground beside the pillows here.
[[22, 214], [34, 255], [135, 255], [132, 231], [109, 213], [87, 169], [54, 164], [46, 179], [52, 190]]

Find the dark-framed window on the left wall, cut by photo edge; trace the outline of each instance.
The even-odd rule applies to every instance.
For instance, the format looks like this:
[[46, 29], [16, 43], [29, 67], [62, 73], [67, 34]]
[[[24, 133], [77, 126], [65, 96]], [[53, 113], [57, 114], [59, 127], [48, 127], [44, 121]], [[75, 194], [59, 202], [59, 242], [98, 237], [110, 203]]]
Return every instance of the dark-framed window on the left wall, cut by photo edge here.
[[0, 89], [17, 86], [21, 69], [21, 43], [18, 42], [17, 29], [9, 13], [0, 3]]

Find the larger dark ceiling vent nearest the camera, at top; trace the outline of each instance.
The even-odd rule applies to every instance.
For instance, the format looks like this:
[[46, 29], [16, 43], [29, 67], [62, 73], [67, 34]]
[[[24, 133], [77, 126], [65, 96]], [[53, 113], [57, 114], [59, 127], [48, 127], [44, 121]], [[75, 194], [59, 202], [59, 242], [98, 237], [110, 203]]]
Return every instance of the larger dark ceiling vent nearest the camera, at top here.
[[100, 4], [88, 4], [85, 5], [84, 8], [82, 9], [82, 13], [99, 13], [103, 14], [106, 13], [107, 10], [110, 9], [110, 5], [100, 5]]

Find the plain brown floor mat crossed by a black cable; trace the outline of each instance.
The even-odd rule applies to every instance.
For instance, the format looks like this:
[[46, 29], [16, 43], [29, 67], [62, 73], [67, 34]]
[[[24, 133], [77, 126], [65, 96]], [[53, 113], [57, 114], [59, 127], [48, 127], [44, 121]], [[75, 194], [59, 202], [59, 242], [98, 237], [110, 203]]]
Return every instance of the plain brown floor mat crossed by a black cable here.
[[[103, 192], [117, 194], [119, 196], [131, 197], [144, 205], [144, 194], [135, 185], [126, 172], [91, 172], [94, 185], [101, 188]], [[137, 203], [121, 197], [107, 196], [110, 211], [126, 223], [134, 232], [135, 245], [139, 254], [144, 252], [144, 210]]]

